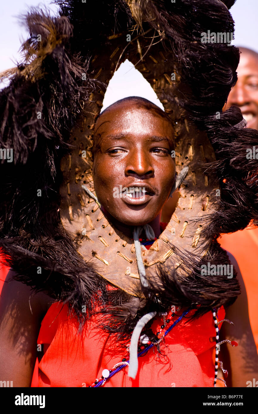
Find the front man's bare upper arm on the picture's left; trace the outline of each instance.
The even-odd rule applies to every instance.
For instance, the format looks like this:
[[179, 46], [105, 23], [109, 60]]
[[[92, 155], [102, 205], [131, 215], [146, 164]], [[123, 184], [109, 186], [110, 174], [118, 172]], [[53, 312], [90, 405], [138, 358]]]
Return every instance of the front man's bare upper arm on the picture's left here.
[[10, 270], [0, 296], [0, 376], [12, 378], [14, 387], [30, 387], [39, 352], [37, 338], [51, 298], [34, 294], [14, 280]]

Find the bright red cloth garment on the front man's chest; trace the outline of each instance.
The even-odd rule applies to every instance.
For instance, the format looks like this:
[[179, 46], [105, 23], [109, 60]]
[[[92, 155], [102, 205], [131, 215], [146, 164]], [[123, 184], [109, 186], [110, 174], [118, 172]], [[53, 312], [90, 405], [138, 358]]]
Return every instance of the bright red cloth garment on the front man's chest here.
[[[51, 305], [41, 323], [38, 344], [43, 344], [44, 354], [39, 363], [39, 387], [88, 387], [101, 378], [103, 369], [112, 369], [129, 354], [113, 335], [96, 327], [98, 315], [85, 323], [80, 337], [76, 318], [69, 318], [67, 305], [62, 305]], [[139, 357], [135, 380], [128, 378], [128, 368], [123, 368], [106, 381], [105, 387], [213, 387], [212, 312], [189, 323], [192, 313], [193, 310], [166, 335], [165, 345], [161, 346], [164, 355], [154, 347]], [[219, 320], [224, 316], [221, 307]], [[177, 318], [174, 316], [173, 320]], [[160, 316], [154, 320], [153, 332], [161, 322]]]

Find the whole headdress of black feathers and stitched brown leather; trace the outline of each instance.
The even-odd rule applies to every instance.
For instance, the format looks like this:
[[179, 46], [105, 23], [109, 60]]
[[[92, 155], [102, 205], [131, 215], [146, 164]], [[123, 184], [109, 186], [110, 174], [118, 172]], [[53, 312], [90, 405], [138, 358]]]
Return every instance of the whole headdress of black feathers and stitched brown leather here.
[[[13, 150], [1, 164], [0, 248], [17, 279], [68, 301], [79, 318], [98, 301], [114, 317], [108, 329], [128, 332], [147, 309], [198, 303], [200, 314], [239, 294], [235, 277], [200, 272], [229, 262], [220, 233], [258, 217], [257, 178], [246, 178], [257, 170], [246, 149], [258, 145], [258, 132], [245, 128], [238, 108], [222, 112], [239, 51], [201, 40], [208, 31], [233, 33], [233, 3], [70, 0], [58, 1], [58, 17], [36, 9], [26, 17], [24, 61], [0, 93], [0, 147]], [[166, 230], [141, 253], [147, 287], [134, 243], [90, 195], [94, 124], [126, 58], [171, 118], [178, 176], [188, 167]], [[106, 281], [120, 289], [107, 292]]]

